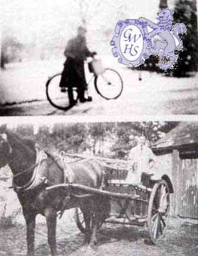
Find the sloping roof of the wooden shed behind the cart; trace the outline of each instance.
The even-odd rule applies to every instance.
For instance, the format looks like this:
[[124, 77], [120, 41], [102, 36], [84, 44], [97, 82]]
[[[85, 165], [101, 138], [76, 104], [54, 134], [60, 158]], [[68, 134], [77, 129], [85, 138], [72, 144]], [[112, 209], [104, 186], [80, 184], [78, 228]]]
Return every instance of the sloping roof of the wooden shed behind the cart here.
[[198, 122], [180, 122], [163, 139], [158, 140], [152, 149], [179, 149], [193, 145], [198, 146]]

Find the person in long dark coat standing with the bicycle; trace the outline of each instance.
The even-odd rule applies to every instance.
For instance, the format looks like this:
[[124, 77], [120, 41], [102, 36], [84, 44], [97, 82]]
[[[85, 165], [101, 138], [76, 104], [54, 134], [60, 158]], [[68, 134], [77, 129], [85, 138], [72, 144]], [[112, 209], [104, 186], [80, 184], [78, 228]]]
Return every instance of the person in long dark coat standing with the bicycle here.
[[78, 27], [77, 36], [68, 41], [64, 51], [67, 60], [64, 63], [60, 87], [61, 91], [66, 91], [65, 87], [68, 87], [70, 106], [74, 106], [77, 103], [77, 100], [74, 100], [73, 87], [77, 87], [78, 99], [81, 103], [91, 101], [91, 98], [85, 98], [87, 82], [85, 79], [84, 60], [87, 57], [94, 57], [97, 53], [88, 50], [85, 38], [86, 32], [87, 30], [84, 27]]

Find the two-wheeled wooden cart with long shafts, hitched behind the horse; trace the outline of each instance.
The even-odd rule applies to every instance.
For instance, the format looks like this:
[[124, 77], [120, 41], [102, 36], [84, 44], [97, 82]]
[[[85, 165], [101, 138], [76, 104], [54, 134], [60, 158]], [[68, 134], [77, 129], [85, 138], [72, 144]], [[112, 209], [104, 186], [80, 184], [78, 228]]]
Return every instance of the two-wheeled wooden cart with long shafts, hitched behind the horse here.
[[[69, 155], [81, 157], [82, 155]], [[97, 157], [104, 163], [108, 178], [107, 185], [101, 189], [88, 186], [70, 184], [70, 188], [79, 188], [90, 195], [100, 194], [110, 199], [108, 218], [103, 223], [136, 225], [146, 227], [153, 244], [160, 241], [166, 234], [170, 215], [170, 193], [173, 186], [169, 176], [161, 175], [160, 179], [154, 175], [142, 173], [141, 184], [126, 182], [128, 162], [124, 160]], [[81, 232], [85, 232], [85, 222], [80, 208], [75, 208], [75, 222]]]

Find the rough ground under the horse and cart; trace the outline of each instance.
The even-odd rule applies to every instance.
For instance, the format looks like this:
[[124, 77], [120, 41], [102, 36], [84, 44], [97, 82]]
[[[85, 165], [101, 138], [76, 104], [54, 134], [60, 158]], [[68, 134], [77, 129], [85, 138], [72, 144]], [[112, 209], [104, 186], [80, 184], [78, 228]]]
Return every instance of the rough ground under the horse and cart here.
[[[147, 232], [144, 228], [123, 227], [105, 224], [98, 233], [98, 247], [93, 250], [84, 245], [84, 235], [77, 229], [72, 211], [66, 213], [57, 225], [58, 255], [110, 256], [110, 255], [153, 255], [195, 256], [198, 255], [198, 225], [171, 219], [166, 238], [160, 245], [144, 243]], [[25, 255], [26, 229], [22, 223], [17, 227], [1, 229], [0, 255]], [[35, 255], [50, 255], [47, 244], [47, 227], [39, 222], [36, 228]]]

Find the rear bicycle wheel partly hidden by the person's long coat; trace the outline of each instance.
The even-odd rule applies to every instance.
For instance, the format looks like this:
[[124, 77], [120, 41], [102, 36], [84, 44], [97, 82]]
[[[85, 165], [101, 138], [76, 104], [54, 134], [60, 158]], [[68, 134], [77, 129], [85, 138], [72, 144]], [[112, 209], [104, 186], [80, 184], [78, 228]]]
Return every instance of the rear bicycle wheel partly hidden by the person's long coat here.
[[[68, 91], [61, 91], [60, 85], [61, 73], [56, 74], [48, 79], [46, 83], [46, 94], [49, 103], [61, 110], [68, 110], [71, 108], [70, 101], [68, 99]], [[74, 99], [77, 99], [77, 93], [74, 90]]]

